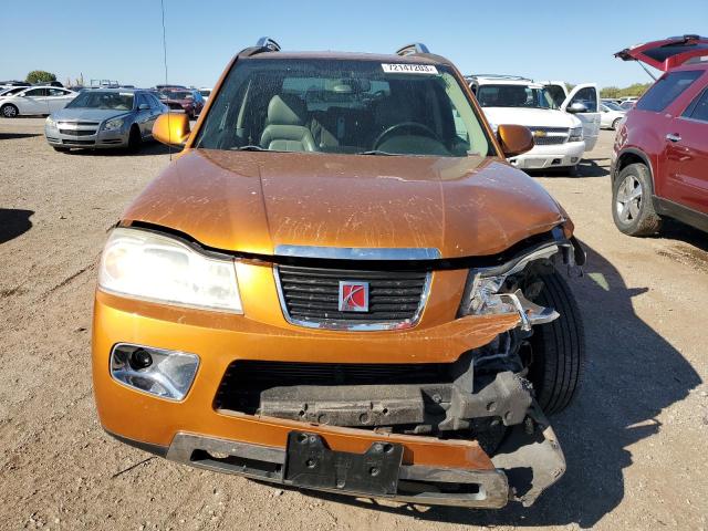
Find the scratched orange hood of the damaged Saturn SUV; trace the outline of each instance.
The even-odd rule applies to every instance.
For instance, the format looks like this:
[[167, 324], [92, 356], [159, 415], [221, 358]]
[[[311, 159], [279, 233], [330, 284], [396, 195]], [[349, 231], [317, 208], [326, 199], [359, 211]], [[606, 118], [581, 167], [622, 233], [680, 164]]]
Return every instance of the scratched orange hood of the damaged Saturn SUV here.
[[194, 149], [124, 215], [223, 250], [277, 246], [500, 252], [563, 221], [533, 179], [490, 157], [387, 157]]

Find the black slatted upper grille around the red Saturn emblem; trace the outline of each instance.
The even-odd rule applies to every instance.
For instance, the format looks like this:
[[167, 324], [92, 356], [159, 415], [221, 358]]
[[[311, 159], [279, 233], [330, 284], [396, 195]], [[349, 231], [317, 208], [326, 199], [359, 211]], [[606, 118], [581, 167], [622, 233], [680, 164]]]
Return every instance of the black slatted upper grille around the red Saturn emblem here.
[[[423, 303], [425, 271], [356, 271], [279, 266], [284, 310], [302, 324], [409, 323]], [[368, 311], [341, 312], [340, 282], [368, 283]]]

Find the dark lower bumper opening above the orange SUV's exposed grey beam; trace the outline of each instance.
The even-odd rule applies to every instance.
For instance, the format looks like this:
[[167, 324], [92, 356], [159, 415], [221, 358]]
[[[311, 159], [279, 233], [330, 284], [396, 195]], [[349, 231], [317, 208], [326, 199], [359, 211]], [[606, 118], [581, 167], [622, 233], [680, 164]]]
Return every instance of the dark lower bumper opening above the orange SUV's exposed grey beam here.
[[[457, 371], [457, 372], [456, 372]], [[454, 363], [295, 363], [240, 360], [227, 368], [215, 408], [253, 415], [261, 393], [274, 387], [340, 385], [425, 385], [452, 382]]]

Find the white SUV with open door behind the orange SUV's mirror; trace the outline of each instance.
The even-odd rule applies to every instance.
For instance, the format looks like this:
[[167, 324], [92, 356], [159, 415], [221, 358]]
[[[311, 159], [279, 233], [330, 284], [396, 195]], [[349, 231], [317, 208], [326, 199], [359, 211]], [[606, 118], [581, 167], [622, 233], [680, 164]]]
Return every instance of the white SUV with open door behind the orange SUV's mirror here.
[[487, 119], [524, 125], [534, 147], [509, 162], [523, 169], [574, 168], [600, 136], [600, 92], [594, 83], [568, 91], [563, 82], [512, 75], [476, 75], [468, 81]]

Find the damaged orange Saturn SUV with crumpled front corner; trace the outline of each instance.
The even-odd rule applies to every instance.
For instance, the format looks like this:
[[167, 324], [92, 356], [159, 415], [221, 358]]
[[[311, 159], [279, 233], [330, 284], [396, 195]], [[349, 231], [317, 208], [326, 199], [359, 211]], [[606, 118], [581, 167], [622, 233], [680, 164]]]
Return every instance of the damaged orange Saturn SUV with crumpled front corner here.
[[195, 467], [355, 496], [500, 508], [565, 469], [544, 414], [584, 343], [573, 225], [506, 157], [457, 69], [397, 54], [229, 64], [100, 264], [103, 427]]

